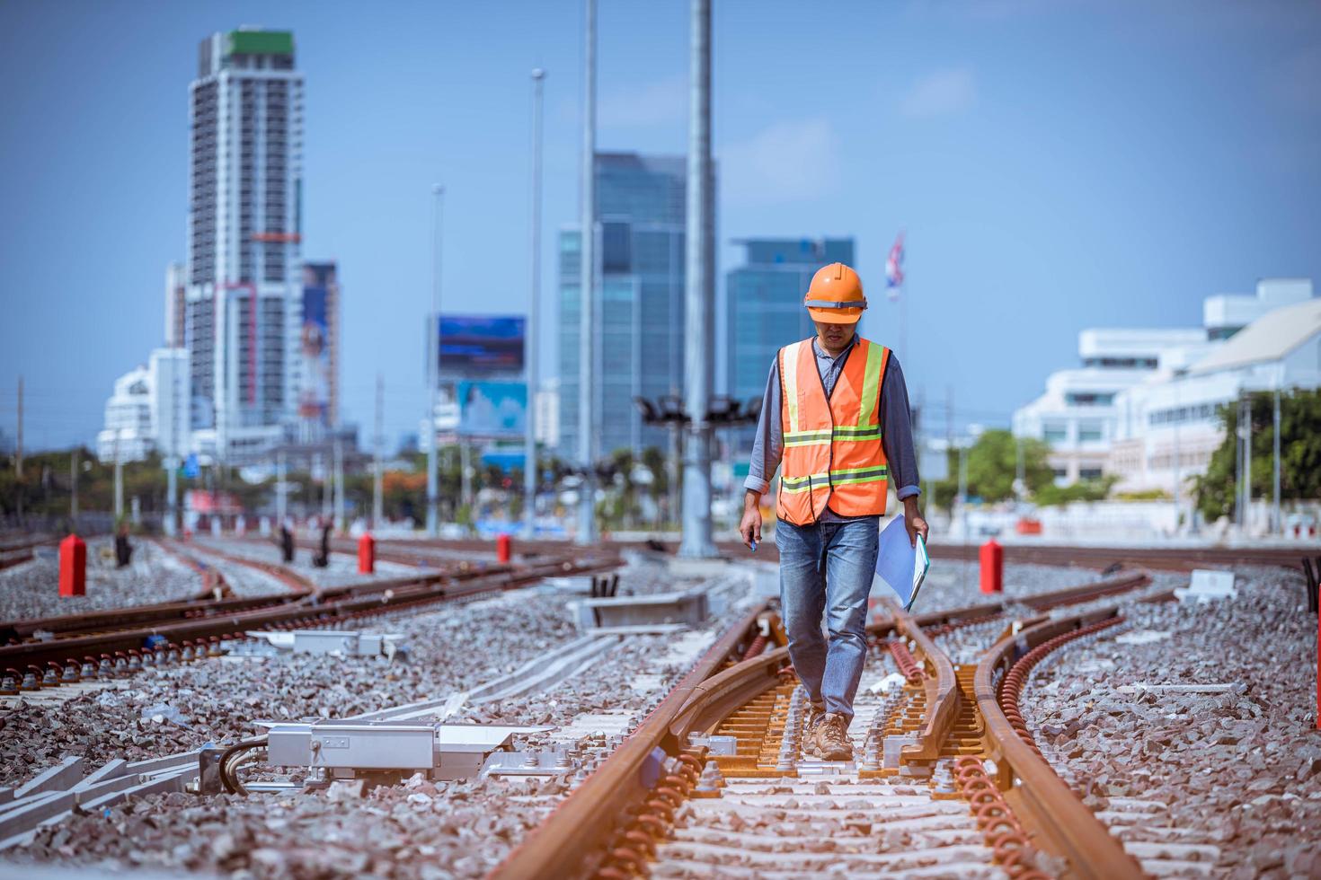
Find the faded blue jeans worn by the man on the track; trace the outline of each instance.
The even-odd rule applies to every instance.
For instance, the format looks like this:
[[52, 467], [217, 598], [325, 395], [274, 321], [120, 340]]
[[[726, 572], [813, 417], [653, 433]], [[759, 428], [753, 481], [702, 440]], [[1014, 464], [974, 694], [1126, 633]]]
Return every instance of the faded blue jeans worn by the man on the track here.
[[[775, 524], [779, 606], [789, 658], [812, 703], [853, 719], [867, 660], [867, 596], [876, 574], [880, 520]], [[822, 615], [830, 644], [822, 635]]]

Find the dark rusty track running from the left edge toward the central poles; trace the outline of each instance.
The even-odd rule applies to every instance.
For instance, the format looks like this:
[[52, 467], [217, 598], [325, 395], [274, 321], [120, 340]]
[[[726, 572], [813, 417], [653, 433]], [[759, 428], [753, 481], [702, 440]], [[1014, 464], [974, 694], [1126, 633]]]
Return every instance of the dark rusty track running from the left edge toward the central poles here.
[[58, 687], [81, 679], [119, 677], [143, 665], [221, 653], [252, 629], [328, 628], [404, 607], [509, 590], [542, 578], [600, 571], [618, 565], [608, 553], [561, 554], [535, 565], [466, 565], [314, 587], [283, 566], [217, 550], [231, 563], [267, 570], [288, 594], [194, 598], [104, 612], [0, 623], [0, 693]]

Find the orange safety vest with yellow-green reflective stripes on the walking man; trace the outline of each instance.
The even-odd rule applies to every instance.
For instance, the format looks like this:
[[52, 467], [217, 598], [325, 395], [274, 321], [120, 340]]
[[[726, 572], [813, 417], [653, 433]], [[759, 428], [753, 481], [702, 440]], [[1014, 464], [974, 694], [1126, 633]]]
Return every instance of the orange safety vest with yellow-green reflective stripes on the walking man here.
[[812, 339], [779, 350], [781, 520], [808, 525], [827, 507], [840, 516], [885, 513], [889, 468], [880, 417], [889, 358], [889, 348], [859, 336], [827, 400]]

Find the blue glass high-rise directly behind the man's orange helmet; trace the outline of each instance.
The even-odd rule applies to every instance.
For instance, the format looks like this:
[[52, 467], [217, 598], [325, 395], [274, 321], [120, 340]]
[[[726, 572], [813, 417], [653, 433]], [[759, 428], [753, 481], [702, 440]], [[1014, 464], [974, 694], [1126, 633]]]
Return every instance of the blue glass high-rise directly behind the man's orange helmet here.
[[[775, 352], [816, 331], [803, 307], [812, 274], [828, 263], [853, 265], [853, 239], [745, 239], [746, 263], [725, 276], [729, 396], [761, 397]], [[742, 453], [752, 429], [729, 439]]]

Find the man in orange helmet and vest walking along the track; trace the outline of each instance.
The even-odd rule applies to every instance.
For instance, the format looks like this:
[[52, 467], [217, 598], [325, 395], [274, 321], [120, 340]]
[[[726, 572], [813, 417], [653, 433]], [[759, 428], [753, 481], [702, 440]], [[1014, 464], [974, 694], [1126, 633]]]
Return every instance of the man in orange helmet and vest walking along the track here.
[[770, 367], [738, 532], [756, 549], [761, 497], [779, 467], [779, 604], [810, 701], [804, 751], [844, 761], [853, 756], [848, 726], [892, 475], [909, 540], [925, 541], [927, 525], [904, 373], [888, 348], [855, 332], [867, 309], [861, 278], [832, 263], [812, 277], [803, 305], [816, 335], [781, 348]]

